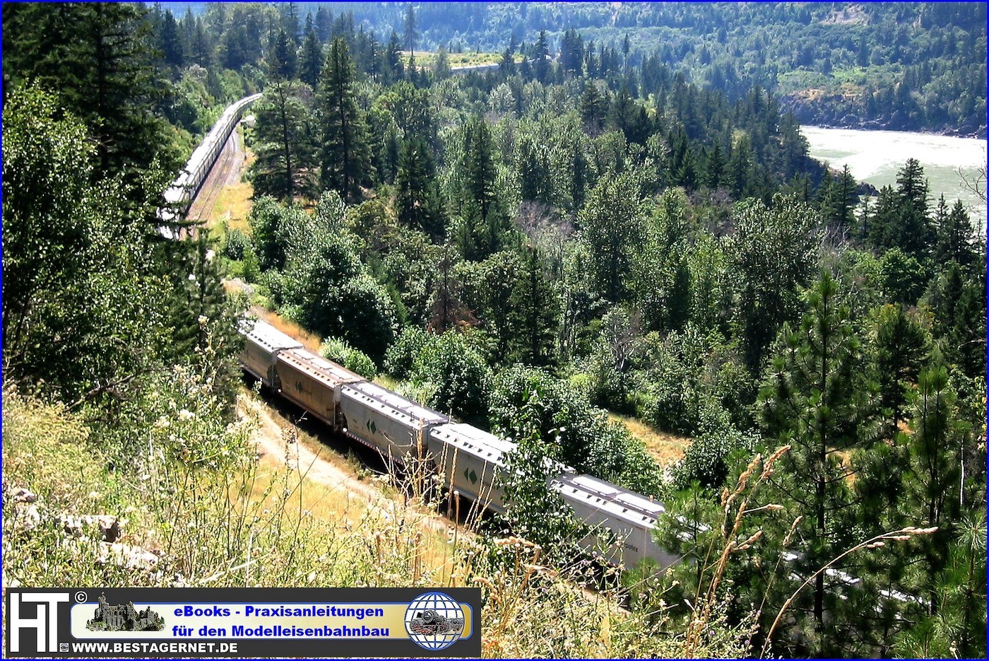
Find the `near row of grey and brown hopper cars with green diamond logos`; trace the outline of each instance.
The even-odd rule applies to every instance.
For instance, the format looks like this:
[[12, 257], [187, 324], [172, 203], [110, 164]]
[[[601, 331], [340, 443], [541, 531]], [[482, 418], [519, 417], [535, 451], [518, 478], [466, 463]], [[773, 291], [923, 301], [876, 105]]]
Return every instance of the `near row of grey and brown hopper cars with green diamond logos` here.
[[[432, 465], [447, 490], [456, 490], [478, 507], [505, 512], [498, 474], [515, 444], [473, 425], [451, 422], [441, 413], [372, 383], [304, 348], [264, 322], [243, 322], [244, 370], [315, 418], [371, 447], [387, 460]], [[593, 532], [584, 548], [628, 566], [652, 558], [667, 567], [676, 558], [653, 539], [662, 504], [573, 468], [552, 462], [550, 486]], [[614, 545], [620, 538], [622, 546]]]

